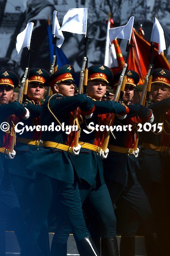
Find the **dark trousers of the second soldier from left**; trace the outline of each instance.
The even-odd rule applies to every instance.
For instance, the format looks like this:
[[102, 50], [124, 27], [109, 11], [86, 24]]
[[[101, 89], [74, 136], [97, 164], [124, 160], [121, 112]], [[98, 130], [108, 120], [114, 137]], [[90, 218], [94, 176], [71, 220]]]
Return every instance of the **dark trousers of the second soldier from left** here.
[[[20, 208], [22, 210], [23, 218], [25, 222], [28, 222], [28, 216], [30, 214], [30, 208], [33, 200], [34, 179], [22, 177], [11, 174], [11, 181], [15, 187], [16, 195], [18, 196]], [[25, 234], [26, 236], [27, 234]], [[38, 240], [41, 251], [45, 256], [50, 254], [49, 236], [48, 236], [48, 224], [44, 222], [41, 233]]]

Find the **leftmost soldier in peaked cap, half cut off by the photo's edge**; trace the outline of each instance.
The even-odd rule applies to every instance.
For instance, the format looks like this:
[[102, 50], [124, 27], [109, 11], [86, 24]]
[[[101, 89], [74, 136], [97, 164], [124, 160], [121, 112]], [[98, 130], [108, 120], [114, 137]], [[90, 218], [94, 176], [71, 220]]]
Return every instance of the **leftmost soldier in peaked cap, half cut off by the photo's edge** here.
[[[18, 102], [9, 103], [19, 79], [11, 71], [0, 71], [0, 255], [5, 256], [5, 230], [8, 219], [12, 219], [13, 228], [21, 250], [25, 250], [26, 226], [22, 218], [18, 197], [11, 184], [8, 164], [16, 152], [12, 147], [14, 139], [14, 114], [28, 118], [26, 109]], [[8, 127], [7, 127], [8, 125]], [[6, 129], [7, 128], [7, 129]]]

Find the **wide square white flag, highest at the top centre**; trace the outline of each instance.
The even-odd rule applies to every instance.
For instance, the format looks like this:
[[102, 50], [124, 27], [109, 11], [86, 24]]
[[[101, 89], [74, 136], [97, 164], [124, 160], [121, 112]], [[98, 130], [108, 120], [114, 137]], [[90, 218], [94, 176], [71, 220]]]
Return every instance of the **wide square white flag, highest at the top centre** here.
[[87, 35], [87, 8], [72, 8], [63, 17], [62, 31]]

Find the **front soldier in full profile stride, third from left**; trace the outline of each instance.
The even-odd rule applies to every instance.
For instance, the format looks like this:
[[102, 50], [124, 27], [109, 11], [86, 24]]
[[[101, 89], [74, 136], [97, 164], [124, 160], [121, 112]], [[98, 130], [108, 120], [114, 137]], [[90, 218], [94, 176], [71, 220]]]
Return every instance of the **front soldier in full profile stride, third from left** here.
[[35, 201], [28, 238], [31, 256], [37, 253], [37, 240], [52, 197], [65, 211], [80, 255], [99, 255], [86, 228], [76, 175], [69, 157], [69, 154], [77, 155], [80, 146], [74, 146], [75, 131], [66, 133], [67, 127], [73, 126], [76, 120], [74, 110], [79, 106], [84, 115], [89, 115], [94, 110], [94, 103], [85, 95], [74, 96], [73, 73], [74, 68], [65, 65], [47, 81], [54, 94], [42, 105], [41, 125], [49, 130], [42, 131], [42, 147], [29, 166], [29, 169], [36, 170]]

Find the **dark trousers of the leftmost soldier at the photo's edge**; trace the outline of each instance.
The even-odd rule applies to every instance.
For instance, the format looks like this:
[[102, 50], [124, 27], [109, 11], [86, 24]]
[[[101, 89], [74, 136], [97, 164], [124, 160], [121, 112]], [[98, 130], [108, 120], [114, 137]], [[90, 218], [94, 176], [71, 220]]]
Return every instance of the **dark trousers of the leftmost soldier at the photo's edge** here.
[[18, 197], [12, 185], [0, 185], [0, 255], [5, 255], [5, 230], [8, 220], [12, 220], [12, 228], [15, 230], [20, 248], [26, 247], [26, 224], [22, 218], [22, 212]]

